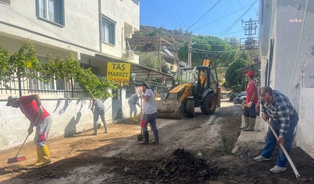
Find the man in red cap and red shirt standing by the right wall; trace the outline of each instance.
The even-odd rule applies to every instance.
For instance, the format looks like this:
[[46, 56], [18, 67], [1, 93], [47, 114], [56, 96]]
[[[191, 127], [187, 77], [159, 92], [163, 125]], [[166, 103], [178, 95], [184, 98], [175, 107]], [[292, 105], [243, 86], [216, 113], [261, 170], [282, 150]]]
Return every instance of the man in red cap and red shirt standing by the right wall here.
[[254, 131], [256, 121], [255, 105], [258, 103], [257, 87], [254, 80], [254, 71], [250, 70], [246, 73], [249, 83], [246, 89], [246, 107], [244, 107], [245, 126], [241, 127], [243, 131]]

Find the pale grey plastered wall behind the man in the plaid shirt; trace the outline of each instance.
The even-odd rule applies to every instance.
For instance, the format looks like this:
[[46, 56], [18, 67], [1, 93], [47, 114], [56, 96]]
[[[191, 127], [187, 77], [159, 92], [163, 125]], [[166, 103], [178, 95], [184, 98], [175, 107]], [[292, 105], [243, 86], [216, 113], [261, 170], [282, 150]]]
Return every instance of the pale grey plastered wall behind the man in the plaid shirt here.
[[[268, 39], [274, 40], [274, 55], [269, 85], [288, 95], [300, 117], [296, 131], [296, 145], [314, 157], [314, 124], [310, 123], [314, 118], [314, 103], [310, 100], [313, 99], [314, 85], [305, 87], [303, 83], [303, 79], [306, 78], [304, 71], [308, 71], [307, 78], [313, 80], [314, 67], [310, 63], [313, 63], [314, 57], [314, 1], [308, 1], [304, 20], [305, 4], [306, 0], [278, 0], [277, 4], [272, 3], [270, 24], [273, 26], [269, 26]], [[295, 19], [301, 19], [302, 22], [292, 22]], [[297, 57], [300, 39], [301, 46]], [[267, 58], [269, 58], [269, 47], [267, 57], [265, 54], [261, 56], [261, 67], [265, 67]], [[262, 69], [262, 79], [265, 79], [265, 70]], [[289, 91], [290, 81], [292, 84]], [[313, 81], [309, 83], [311, 82]]]

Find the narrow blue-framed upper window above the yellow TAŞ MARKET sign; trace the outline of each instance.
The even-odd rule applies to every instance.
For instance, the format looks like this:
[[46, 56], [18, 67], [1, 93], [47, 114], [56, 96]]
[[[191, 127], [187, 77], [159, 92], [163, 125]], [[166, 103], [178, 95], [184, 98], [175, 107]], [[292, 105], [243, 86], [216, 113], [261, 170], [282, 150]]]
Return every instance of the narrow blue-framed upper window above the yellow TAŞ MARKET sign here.
[[115, 45], [115, 26], [116, 22], [103, 16], [102, 18], [103, 42]]

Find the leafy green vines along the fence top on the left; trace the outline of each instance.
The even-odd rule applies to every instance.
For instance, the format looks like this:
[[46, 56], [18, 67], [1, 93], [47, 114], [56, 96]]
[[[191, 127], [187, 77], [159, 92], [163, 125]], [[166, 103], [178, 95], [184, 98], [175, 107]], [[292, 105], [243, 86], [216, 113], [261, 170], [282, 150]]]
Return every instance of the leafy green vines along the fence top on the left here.
[[[72, 55], [65, 59], [60, 56], [55, 59], [48, 56], [47, 60], [46, 63], [39, 64], [40, 61], [36, 57], [34, 46], [31, 43], [24, 44], [18, 52], [12, 54], [0, 46], [0, 81], [6, 88], [9, 88], [10, 81], [18, 81], [19, 89], [21, 89], [21, 80], [39, 79], [47, 83], [51, 79], [59, 81], [67, 79], [71, 81], [72, 88], [74, 80], [78, 82], [84, 94], [100, 99], [112, 96], [107, 88], [116, 88], [112, 82], [94, 75], [90, 68], [81, 68], [79, 62]], [[40, 76], [37, 75], [37, 72], [40, 73]]]

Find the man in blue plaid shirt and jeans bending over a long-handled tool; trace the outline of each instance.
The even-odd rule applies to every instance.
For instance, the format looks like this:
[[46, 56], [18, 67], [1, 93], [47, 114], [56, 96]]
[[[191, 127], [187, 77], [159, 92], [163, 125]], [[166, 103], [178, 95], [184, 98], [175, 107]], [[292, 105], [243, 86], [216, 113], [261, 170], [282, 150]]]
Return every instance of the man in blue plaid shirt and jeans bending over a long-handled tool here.
[[[299, 117], [287, 96], [277, 90], [272, 90], [268, 86], [260, 89], [261, 95], [261, 111], [262, 119], [266, 121], [270, 118], [270, 125], [278, 134], [278, 140], [272, 131], [268, 131], [265, 138], [265, 145], [259, 157], [254, 158], [255, 161], [270, 160], [276, 143], [282, 143], [287, 152], [289, 152], [294, 128], [298, 123]], [[270, 169], [271, 172], [279, 173], [286, 170], [287, 158], [283, 150], [279, 147], [276, 165]]]

